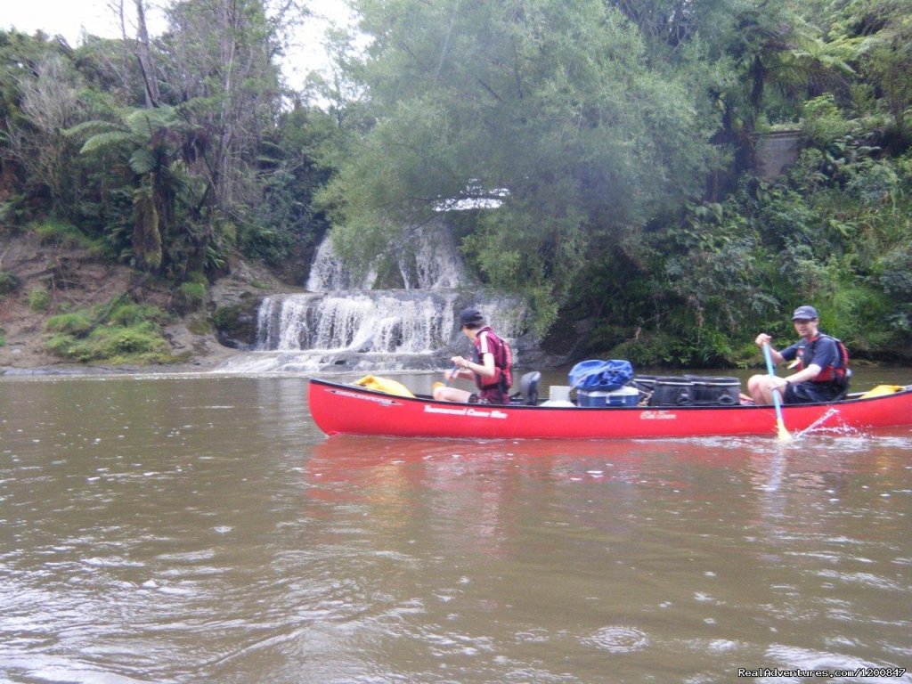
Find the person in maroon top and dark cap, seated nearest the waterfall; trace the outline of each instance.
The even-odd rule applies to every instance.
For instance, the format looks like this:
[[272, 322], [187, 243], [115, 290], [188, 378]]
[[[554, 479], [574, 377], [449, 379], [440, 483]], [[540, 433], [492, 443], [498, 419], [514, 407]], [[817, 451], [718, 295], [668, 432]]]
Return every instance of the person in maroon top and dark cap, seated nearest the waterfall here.
[[[513, 384], [513, 358], [510, 346], [484, 321], [477, 309], [463, 309], [459, 316], [462, 333], [472, 340], [475, 358], [452, 357], [451, 370], [443, 376], [446, 385], [434, 388], [434, 399], [440, 401], [478, 402], [482, 404], [509, 404], [508, 394]], [[474, 378], [479, 391], [469, 392], [449, 386], [455, 378]]]

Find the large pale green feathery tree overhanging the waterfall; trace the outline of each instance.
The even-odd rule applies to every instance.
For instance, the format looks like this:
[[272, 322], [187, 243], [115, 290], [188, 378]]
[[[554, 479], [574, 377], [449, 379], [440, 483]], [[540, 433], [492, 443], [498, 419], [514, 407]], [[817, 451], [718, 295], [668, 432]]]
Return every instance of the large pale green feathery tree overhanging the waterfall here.
[[349, 258], [372, 258], [445, 201], [495, 199], [466, 220], [463, 247], [491, 285], [535, 288], [544, 326], [594, 242], [697, 197], [720, 158], [720, 112], [701, 117], [710, 108], [648, 67], [637, 27], [604, 3], [361, 10], [378, 124], [321, 195]]

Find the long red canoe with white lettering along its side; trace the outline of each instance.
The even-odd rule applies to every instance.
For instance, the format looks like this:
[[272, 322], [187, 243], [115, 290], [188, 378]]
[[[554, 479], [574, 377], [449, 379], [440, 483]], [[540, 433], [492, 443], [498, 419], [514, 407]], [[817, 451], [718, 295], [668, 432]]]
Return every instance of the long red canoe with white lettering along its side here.
[[[772, 406], [545, 407], [453, 404], [311, 379], [310, 412], [329, 435], [488, 440], [617, 440], [776, 434]], [[790, 432], [912, 425], [912, 386], [879, 397], [782, 408]]]

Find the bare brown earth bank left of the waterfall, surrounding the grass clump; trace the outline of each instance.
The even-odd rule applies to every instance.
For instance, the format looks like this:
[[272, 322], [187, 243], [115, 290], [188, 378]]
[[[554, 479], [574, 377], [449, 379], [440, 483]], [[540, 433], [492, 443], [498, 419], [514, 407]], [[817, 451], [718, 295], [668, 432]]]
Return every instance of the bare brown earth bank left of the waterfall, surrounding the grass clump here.
[[[242, 312], [242, 318], [250, 318], [250, 312], [255, 315], [257, 303], [264, 296], [295, 290], [294, 285], [282, 282], [263, 264], [236, 259], [229, 269], [227, 275], [210, 285], [205, 301], [192, 307], [181, 306], [171, 284], [130, 266], [112, 263], [78, 245], [47, 244], [31, 233], [5, 234], [0, 243], [0, 275], [5, 275], [6, 284], [0, 292], [0, 374], [181, 373], [217, 369], [238, 352], [220, 343], [213, 316], [227, 310], [235, 317]], [[47, 350], [48, 318], [104, 304], [123, 293], [172, 313], [162, 326], [162, 335], [174, 363], [86, 365], [65, 361]], [[237, 345], [237, 340], [227, 341]]]

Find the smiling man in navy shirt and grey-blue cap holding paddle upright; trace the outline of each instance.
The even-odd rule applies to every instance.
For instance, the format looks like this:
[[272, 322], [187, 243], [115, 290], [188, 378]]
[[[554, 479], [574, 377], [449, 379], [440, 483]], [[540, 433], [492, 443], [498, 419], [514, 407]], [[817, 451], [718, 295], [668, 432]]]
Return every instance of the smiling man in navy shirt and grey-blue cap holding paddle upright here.
[[[792, 322], [799, 339], [791, 347], [776, 351], [770, 347], [774, 364], [795, 361], [789, 368], [795, 372], [787, 378], [755, 375], [747, 382], [751, 399], [757, 404], [772, 404], [772, 392], [778, 391], [784, 404], [804, 404], [814, 401], [832, 401], [847, 385], [848, 353], [845, 345], [818, 330], [817, 309], [799, 306], [792, 315]], [[757, 336], [758, 347], [769, 345], [772, 337], [766, 333]]]

